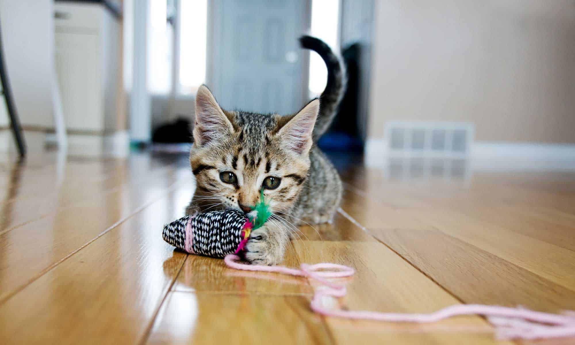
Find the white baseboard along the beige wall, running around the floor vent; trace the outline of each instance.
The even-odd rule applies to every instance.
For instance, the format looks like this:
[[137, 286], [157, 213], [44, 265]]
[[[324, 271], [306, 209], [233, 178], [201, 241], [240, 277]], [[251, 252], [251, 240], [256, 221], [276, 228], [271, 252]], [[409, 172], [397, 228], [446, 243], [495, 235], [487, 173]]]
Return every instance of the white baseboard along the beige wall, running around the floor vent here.
[[385, 139], [366, 141], [365, 160], [369, 166], [382, 166], [390, 156], [420, 156], [469, 159], [474, 170], [575, 169], [575, 144], [476, 141], [468, 155], [442, 155], [434, 152], [391, 152], [386, 143]]

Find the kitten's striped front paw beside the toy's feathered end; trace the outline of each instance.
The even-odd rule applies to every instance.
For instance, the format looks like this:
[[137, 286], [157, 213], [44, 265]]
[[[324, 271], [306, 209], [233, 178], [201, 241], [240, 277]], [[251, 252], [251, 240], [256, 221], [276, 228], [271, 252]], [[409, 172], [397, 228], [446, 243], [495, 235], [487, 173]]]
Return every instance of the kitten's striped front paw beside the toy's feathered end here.
[[252, 264], [278, 264], [283, 260], [284, 244], [281, 234], [263, 225], [252, 231], [246, 243], [245, 258]]

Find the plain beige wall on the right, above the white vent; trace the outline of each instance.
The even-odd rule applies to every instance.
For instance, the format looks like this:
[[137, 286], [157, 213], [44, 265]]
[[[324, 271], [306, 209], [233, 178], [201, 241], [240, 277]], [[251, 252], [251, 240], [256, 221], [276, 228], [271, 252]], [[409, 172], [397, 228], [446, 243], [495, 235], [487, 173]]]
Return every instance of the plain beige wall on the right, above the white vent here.
[[573, 0], [376, 1], [370, 137], [465, 121], [476, 139], [575, 143]]

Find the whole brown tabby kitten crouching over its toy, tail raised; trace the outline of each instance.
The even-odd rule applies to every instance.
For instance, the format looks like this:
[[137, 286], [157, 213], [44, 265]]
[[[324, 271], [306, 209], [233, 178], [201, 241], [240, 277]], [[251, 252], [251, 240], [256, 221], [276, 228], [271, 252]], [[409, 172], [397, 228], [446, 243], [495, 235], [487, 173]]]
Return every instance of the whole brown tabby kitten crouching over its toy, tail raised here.
[[197, 188], [187, 214], [216, 209], [250, 212], [263, 189], [275, 216], [248, 240], [244, 258], [254, 264], [280, 263], [295, 231], [288, 224], [331, 222], [342, 198], [339, 175], [315, 143], [327, 131], [343, 96], [343, 64], [315, 37], [302, 36], [300, 43], [323, 58], [328, 81], [320, 98], [296, 114], [226, 111], [204, 85], [196, 96], [190, 165]]

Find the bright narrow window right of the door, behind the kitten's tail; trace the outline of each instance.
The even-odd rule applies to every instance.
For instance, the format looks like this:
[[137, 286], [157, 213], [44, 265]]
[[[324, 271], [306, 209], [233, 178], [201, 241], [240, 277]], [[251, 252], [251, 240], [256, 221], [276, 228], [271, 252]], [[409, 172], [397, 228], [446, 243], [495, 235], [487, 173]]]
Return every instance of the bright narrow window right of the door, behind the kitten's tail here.
[[[324, 40], [335, 52], [339, 52], [338, 40], [339, 0], [312, 0], [312, 36]], [[313, 96], [321, 94], [327, 83], [327, 68], [316, 52], [309, 57], [309, 91]]]

